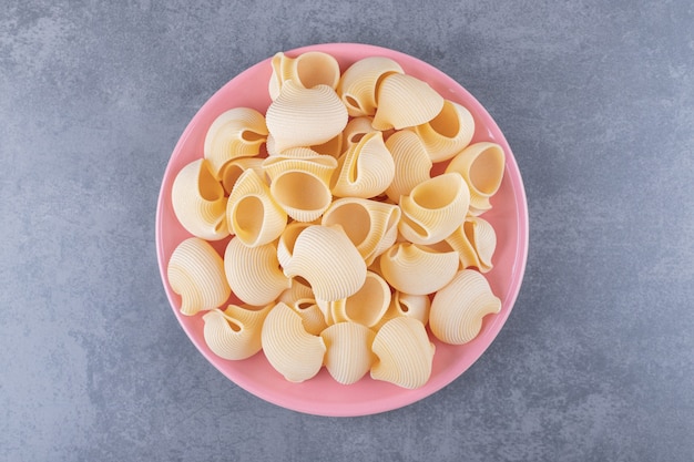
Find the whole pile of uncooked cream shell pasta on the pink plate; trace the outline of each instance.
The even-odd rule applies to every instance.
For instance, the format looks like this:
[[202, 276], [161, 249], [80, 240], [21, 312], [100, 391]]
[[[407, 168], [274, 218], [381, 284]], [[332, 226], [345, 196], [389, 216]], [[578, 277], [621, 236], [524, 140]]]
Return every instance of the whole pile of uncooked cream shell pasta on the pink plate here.
[[279, 52], [272, 68], [266, 113], [220, 114], [173, 182], [192, 235], [167, 266], [181, 312], [203, 317], [215, 355], [263, 350], [293, 382], [325, 367], [343, 384], [421, 387], [430, 336], [469, 342], [501, 309], [481, 215], [503, 150], [471, 144], [471, 113], [391, 59], [340, 72], [327, 53]]

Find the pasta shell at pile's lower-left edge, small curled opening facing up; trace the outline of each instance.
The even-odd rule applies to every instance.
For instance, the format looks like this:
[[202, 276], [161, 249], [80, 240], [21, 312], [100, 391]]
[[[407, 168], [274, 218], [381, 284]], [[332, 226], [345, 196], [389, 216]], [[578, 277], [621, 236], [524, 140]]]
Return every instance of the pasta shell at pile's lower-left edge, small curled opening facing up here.
[[224, 311], [218, 308], [207, 311], [203, 316], [205, 343], [220, 358], [251, 358], [263, 348], [261, 330], [272, 307], [229, 305]]

